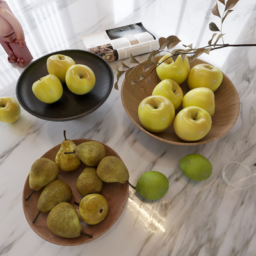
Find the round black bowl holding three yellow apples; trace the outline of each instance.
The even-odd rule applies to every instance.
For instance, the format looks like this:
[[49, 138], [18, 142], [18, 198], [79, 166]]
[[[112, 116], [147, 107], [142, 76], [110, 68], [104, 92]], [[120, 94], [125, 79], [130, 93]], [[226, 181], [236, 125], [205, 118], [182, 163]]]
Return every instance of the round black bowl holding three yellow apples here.
[[[76, 95], [63, 85], [63, 95], [60, 100], [46, 104], [38, 100], [32, 92], [32, 85], [48, 74], [46, 61], [51, 55], [63, 54], [72, 58], [76, 64], [92, 68], [96, 83], [93, 89], [85, 95]], [[49, 121], [69, 121], [89, 115], [108, 99], [113, 88], [113, 71], [108, 62], [92, 52], [83, 50], [65, 50], [52, 52], [29, 64], [17, 81], [16, 94], [20, 106], [28, 113]]]

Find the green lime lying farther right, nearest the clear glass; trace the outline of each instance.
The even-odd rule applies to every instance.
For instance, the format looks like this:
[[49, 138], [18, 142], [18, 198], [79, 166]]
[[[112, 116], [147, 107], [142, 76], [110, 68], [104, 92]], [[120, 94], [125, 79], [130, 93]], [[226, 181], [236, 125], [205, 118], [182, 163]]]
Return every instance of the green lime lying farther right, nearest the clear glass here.
[[180, 169], [191, 180], [208, 179], [212, 174], [212, 164], [200, 154], [189, 154], [179, 160]]

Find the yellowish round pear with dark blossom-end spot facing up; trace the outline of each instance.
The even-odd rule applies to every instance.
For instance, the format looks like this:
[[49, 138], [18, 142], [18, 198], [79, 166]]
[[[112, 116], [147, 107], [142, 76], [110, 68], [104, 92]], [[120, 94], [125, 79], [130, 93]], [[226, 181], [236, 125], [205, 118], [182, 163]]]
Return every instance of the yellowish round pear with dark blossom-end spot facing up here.
[[79, 213], [85, 223], [98, 224], [108, 215], [108, 202], [100, 194], [86, 195], [79, 204]]

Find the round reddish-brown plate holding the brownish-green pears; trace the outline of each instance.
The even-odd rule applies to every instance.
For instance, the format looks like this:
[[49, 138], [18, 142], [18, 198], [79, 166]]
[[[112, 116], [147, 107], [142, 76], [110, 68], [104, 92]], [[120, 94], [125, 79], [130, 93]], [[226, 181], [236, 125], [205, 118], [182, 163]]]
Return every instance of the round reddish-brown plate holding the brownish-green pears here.
[[[90, 140], [80, 139], [80, 140], [73, 140], [73, 141], [74, 143], [76, 143], [76, 145], [79, 145], [85, 141], [90, 141]], [[55, 156], [58, 150], [60, 149], [60, 146], [61, 145], [57, 145], [56, 147], [52, 148], [51, 150], [46, 152], [42, 157], [47, 157], [52, 161], [55, 161]], [[108, 147], [107, 145], [104, 145], [104, 147], [106, 148], [107, 156], [116, 156], [120, 158], [120, 156], [118, 156], [115, 150]], [[80, 175], [80, 173], [84, 170], [84, 168], [85, 168], [85, 164], [82, 163], [81, 166], [77, 168], [77, 170], [74, 170], [72, 172], [60, 171], [60, 174], [58, 175], [58, 178], [57, 178], [67, 182], [67, 184], [72, 189], [73, 195], [70, 200], [70, 204], [74, 205], [78, 215], [79, 215], [79, 207], [74, 204], [74, 201], [80, 202], [83, 197], [77, 192], [76, 180], [77, 180], [77, 177]], [[28, 201], [25, 200], [28, 197], [28, 195], [31, 193], [31, 189], [29, 188], [29, 175], [28, 175], [28, 178], [26, 179], [26, 182], [24, 185], [22, 203], [23, 203], [24, 214], [26, 216], [26, 219], [30, 227], [36, 232], [36, 234], [38, 234], [38, 236], [42, 237], [43, 239], [45, 239], [50, 243], [58, 244], [58, 245], [73, 246], [73, 245], [84, 244], [84, 243], [93, 241], [94, 239], [104, 234], [107, 230], [109, 230], [109, 228], [113, 226], [113, 224], [116, 222], [116, 220], [118, 220], [120, 214], [124, 210], [125, 204], [127, 202], [129, 185], [127, 183], [120, 184], [117, 182], [115, 183], [104, 182], [104, 186], [100, 194], [105, 196], [106, 200], [108, 201], [108, 206], [109, 206], [108, 215], [103, 221], [101, 221], [97, 225], [88, 225], [84, 223], [83, 220], [81, 220], [80, 218], [81, 224], [83, 225], [83, 232], [91, 234], [93, 236], [92, 238], [84, 235], [81, 235], [77, 238], [63, 238], [63, 237], [59, 237], [52, 234], [46, 225], [46, 220], [49, 212], [47, 213], [41, 212], [36, 222], [32, 223], [36, 214], [38, 213], [37, 203], [38, 203], [39, 196], [42, 193], [42, 190], [43, 189], [40, 189], [40, 191], [36, 191], [35, 193], [33, 193], [33, 195], [31, 196], [31, 198], [29, 198]]]

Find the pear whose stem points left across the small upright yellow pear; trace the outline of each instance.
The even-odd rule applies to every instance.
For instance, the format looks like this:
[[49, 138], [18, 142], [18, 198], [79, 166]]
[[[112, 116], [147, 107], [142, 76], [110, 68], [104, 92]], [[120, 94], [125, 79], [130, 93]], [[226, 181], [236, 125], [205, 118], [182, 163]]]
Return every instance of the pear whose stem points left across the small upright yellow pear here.
[[106, 156], [106, 149], [98, 141], [86, 141], [77, 145], [73, 152], [65, 152], [65, 154], [75, 154], [87, 166], [97, 166]]

